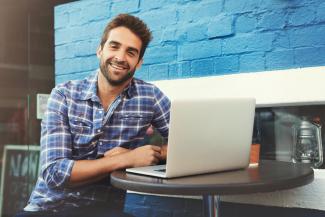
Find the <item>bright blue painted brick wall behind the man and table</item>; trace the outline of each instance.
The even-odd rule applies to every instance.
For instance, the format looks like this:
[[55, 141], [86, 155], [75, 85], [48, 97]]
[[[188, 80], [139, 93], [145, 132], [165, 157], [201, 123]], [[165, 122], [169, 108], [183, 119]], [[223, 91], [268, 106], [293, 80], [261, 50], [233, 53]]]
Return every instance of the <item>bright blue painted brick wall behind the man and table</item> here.
[[[144, 80], [325, 65], [323, 0], [82, 0], [55, 8], [56, 83], [98, 67], [101, 34], [119, 13], [153, 32], [136, 73]], [[191, 217], [200, 204], [130, 194], [125, 207], [137, 217]]]

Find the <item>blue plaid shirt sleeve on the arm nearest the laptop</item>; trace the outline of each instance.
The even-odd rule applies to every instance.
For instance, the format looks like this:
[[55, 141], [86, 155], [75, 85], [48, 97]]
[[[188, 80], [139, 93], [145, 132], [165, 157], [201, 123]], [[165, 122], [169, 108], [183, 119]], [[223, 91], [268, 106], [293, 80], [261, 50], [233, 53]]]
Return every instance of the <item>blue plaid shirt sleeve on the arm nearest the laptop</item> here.
[[154, 88], [155, 104], [152, 125], [167, 141], [169, 130], [170, 100], [157, 87]]

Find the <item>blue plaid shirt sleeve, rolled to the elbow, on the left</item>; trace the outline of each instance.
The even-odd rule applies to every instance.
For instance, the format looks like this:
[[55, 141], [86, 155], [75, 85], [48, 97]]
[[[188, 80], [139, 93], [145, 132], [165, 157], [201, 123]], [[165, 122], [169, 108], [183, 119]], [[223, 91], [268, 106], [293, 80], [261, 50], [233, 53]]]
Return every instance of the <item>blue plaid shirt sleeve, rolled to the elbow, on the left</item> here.
[[71, 160], [71, 133], [66, 97], [53, 89], [42, 120], [41, 175], [49, 188], [60, 188], [68, 182], [74, 161]]

